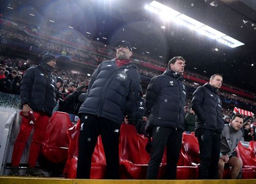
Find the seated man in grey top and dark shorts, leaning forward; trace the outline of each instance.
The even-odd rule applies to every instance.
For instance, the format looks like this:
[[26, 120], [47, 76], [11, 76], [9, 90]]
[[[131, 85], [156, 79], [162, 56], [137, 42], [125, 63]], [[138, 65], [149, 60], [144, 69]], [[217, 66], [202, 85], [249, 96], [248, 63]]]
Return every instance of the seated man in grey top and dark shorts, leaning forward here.
[[243, 117], [241, 115], [234, 115], [230, 124], [225, 124], [221, 133], [221, 153], [218, 163], [219, 171], [218, 177], [222, 179], [223, 170], [226, 167], [231, 167], [229, 177], [230, 179], [237, 179], [240, 169], [242, 167], [241, 161], [236, 155], [236, 147], [243, 137], [241, 127], [243, 126]]

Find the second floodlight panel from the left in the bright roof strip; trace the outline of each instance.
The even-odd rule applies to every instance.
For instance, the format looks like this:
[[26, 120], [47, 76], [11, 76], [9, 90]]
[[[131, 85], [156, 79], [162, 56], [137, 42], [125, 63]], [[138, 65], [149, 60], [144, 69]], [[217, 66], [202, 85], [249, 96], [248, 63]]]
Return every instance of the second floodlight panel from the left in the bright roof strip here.
[[198, 28], [203, 27], [203, 25], [204, 25], [203, 23], [195, 20], [194, 18], [191, 18], [184, 14], [180, 14], [177, 17], [175, 17], [175, 21], [177, 23], [184, 25], [185, 27], [189, 28], [190, 30], [196, 30]]

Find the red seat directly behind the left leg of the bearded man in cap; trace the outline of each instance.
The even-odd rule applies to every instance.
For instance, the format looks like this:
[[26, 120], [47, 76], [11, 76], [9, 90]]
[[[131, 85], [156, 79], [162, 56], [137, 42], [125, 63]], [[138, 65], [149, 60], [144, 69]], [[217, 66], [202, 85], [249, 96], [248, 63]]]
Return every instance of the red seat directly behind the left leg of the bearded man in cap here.
[[[77, 156], [78, 156], [78, 139], [80, 133], [80, 120], [77, 124], [68, 129], [69, 137], [69, 150], [68, 150], [68, 160], [66, 162], [63, 174], [66, 178], [76, 178], [77, 169]], [[97, 144], [95, 146], [92, 155], [92, 165], [91, 165], [91, 179], [104, 179], [106, 175], [106, 161], [103, 145], [101, 142], [101, 137], [98, 137]]]

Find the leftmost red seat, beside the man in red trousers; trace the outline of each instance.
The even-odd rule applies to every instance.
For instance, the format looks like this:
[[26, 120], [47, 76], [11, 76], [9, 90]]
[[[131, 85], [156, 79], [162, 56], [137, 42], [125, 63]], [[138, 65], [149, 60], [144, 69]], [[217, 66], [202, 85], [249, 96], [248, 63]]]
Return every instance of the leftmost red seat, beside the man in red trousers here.
[[41, 153], [45, 158], [56, 164], [67, 160], [69, 140], [67, 129], [73, 124], [69, 115], [63, 112], [54, 112], [46, 129], [45, 140], [42, 143]]

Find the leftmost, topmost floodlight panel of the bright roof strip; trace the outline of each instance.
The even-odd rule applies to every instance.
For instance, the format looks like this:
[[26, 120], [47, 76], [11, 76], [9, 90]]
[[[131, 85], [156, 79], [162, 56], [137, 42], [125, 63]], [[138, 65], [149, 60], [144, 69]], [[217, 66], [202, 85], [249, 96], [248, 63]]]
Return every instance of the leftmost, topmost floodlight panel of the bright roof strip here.
[[169, 8], [157, 1], [153, 1], [149, 5], [146, 5], [145, 9], [158, 14], [164, 20], [170, 20], [180, 14], [180, 12]]

